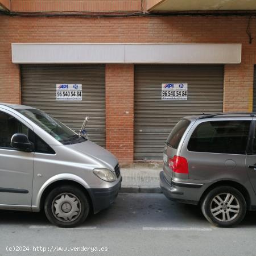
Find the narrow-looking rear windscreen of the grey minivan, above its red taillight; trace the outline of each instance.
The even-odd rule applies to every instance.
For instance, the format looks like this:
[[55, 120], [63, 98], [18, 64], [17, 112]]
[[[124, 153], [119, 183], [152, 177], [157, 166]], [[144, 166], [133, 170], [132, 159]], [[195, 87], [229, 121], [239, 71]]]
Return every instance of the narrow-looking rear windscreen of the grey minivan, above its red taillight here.
[[166, 144], [170, 147], [177, 149], [177, 147], [179, 146], [181, 137], [185, 133], [185, 130], [187, 130], [189, 123], [190, 121], [188, 121], [187, 119], [181, 119], [177, 123], [177, 125], [175, 125], [174, 129], [172, 129], [166, 141]]

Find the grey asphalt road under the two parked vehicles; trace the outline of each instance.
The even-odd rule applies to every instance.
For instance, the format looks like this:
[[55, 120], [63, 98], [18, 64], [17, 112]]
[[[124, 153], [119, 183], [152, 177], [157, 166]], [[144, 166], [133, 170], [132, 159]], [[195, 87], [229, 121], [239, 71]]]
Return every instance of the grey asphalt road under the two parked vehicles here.
[[50, 225], [43, 213], [0, 214], [0, 255], [256, 255], [256, 212], [237, 228], [214, 228], [199, 208], [162, 194], [119, 194], [73, 229]]

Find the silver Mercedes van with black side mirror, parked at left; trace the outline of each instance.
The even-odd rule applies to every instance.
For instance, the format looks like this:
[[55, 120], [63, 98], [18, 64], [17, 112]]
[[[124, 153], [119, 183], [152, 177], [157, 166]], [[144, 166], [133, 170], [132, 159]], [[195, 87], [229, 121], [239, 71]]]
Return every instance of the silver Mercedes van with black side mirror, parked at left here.
[[39, 212], [71, 228], [113, 203], [118, 160], [41, 110], [0, 104], [0, 209]]

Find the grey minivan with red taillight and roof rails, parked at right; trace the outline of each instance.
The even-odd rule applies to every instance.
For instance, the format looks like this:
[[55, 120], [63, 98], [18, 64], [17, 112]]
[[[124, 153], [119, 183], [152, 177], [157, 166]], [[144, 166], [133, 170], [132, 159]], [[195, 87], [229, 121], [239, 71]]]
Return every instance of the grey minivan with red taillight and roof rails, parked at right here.
[[199, 204], [209, 222], [239, 224], [256, 209], [256, 117], [204, 114], [181, 119], [164, 147], [160, 187], [170, 200]]

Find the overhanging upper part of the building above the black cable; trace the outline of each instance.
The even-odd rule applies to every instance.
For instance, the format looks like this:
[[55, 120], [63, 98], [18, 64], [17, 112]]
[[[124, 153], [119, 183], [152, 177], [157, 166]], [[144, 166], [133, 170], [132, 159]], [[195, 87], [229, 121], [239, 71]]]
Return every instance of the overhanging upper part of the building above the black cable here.
[[0, 11], [11, 15], [94, 15], [129, 14], [147, 15], [154, 13], [221, 12], [232, 13], [256, 11], [255, 0], [0, 0]]

